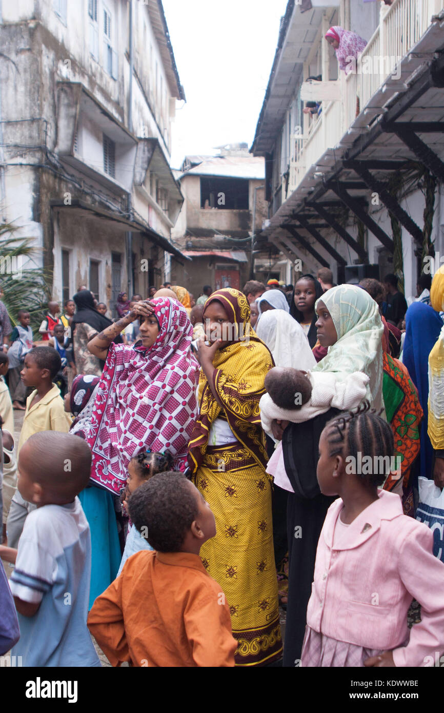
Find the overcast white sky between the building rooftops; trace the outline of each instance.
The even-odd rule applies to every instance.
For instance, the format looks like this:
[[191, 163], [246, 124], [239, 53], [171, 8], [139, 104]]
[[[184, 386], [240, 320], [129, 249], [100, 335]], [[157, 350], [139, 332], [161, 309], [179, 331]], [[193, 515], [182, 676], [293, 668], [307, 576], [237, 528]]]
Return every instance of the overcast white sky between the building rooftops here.
[[287, 0], [162, 0], [187, 103], [177, 103], [172, 168], [187, 154], [252, 145]]

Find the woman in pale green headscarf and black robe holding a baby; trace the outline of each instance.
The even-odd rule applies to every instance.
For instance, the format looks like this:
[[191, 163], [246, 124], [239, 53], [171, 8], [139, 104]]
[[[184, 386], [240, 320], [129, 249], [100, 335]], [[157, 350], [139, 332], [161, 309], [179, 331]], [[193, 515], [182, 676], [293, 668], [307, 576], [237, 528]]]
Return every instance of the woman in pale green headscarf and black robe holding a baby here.
[[[341, 284], [324, 292], [315, 304], [317, 337], [328, 352], [312, 371], [333, 371], [339, 381], [363, 371], [370, 381], [366, 399], [376, 411], [383, 408], [383, 324], [378, 304], [361, 287]], [[294, 492], [287, 499], [289, 596], [286, 610], [284, 667], [300, 659], [311, 595], [316, 543], [332, 498], [324, 496], [316, 480], [319, 438], [332, 416], [329, 409], [302, 423], [273, 421], [273, 435], [282, 438], [286, 475]], [[384, 414], [382, 414], [384, 415]], [[280, 433], [275, 430], [279, 426]], [[298, 533], [303, 533], [302, 538]]]

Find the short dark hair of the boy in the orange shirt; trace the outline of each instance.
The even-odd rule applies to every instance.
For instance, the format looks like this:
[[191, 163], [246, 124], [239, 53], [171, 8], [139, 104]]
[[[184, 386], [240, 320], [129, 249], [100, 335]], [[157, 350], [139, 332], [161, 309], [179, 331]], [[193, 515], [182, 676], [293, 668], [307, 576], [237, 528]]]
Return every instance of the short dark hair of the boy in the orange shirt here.
[[158, 473], [135, 490], [128, 500], [128, 513], [154, 550], [178, 552], [197, 518], [197, 502], [183, 473], [170, 471]]

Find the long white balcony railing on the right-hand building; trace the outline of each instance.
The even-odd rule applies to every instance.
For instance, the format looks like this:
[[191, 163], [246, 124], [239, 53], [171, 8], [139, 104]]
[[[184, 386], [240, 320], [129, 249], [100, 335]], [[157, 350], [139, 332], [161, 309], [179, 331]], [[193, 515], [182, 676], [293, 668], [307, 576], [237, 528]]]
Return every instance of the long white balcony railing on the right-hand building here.
[[388, 76], [396, 76], [396, 64], [420, 40], [430, 19], [444, 9], [444, 0], [395, 0], [358, 61], [357, 72], [340, 73], [341, 101], [322, 102], [322, 112], [308, 135], [294, 137], [294, 160], [283, 200], [296, 190], [311, 165], [334, 148], [356, 118], [356, 99], [362, 109]]

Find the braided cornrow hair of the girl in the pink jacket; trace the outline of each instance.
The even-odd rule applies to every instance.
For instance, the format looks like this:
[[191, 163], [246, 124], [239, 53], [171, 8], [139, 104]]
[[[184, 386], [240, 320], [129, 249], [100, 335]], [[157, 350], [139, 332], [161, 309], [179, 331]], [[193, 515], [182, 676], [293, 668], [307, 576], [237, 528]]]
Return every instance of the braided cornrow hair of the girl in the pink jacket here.
[[[341, 454], [344, 460], [349, 456], [354, 458], [349, 463], [362, 463], [365, 456], [370, 456], [373, 463], [371, 472], [356, 475], [369, 486], [383, 485], [390, 473], [391, 456], [394, 453], [393, 431], [387, 421], [381, 419], [374, 409], [370, 409], [369, 401], [364, 401], [353, 411], [335, 416], [324, 430], [330, 446], [330, 457]], [[358, 458], [358, 453], [361, 453], [361, 458]]]

